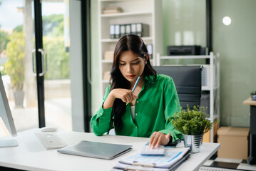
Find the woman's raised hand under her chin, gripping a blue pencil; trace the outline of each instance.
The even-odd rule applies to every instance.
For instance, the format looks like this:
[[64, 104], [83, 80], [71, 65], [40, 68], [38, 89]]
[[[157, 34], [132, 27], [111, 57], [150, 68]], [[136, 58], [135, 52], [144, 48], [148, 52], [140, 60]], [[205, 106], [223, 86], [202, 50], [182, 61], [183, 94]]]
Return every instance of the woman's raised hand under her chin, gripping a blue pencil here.
[[105, 109], [112, 108], [116, 98], [120, 98], [124, 103], [131, 103], [133, 100], [137, 99], [138, 97], [134, 95], [131, 90], [116, 88], [111, 90], [111, 92], [108, 94], [108, 98], [103, 103], [103, 108]]

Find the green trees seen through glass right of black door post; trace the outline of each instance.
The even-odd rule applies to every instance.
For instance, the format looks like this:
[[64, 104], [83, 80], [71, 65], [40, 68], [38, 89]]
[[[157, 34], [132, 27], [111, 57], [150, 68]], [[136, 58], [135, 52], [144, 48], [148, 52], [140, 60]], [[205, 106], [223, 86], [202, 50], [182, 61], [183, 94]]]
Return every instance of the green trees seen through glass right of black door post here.
[[46, 79], [69, 78], [69, 53], [64, 46], [63, 15], [43, 16], [43, 49], [47, 53]]

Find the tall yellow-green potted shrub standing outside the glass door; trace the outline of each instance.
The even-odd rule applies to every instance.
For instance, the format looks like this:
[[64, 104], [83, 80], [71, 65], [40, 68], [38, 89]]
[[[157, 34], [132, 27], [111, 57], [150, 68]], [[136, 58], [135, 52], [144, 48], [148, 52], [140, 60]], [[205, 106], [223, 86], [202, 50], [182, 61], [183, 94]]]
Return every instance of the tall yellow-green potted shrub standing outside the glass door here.
[[24, 103], [24, 72], [25, 72], [25, 41], [23, 31], [14, 30], [6, 47], [8, 60], [4, 64], [4, 72], [10, 76], [14, 90], [15, 107], [23, 107]]

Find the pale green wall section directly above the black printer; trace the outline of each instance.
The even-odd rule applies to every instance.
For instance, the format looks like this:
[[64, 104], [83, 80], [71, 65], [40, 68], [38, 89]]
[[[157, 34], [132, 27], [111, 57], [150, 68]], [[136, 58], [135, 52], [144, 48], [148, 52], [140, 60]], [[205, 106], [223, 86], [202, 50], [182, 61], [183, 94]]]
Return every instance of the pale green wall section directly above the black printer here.
[[206, 46], [205, 0], [163, 1], [163, 52], [170, 45]]

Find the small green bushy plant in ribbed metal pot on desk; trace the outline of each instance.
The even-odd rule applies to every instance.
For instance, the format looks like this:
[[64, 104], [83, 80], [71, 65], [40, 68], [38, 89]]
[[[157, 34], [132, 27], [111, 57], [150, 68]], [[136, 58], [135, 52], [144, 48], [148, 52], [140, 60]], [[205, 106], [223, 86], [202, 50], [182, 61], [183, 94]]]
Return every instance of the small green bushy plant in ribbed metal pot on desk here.
[[203, 134], [213, 127], [214, 122], [210, 121], [210, 115], [205, 113], [205, 107], [194, 106], [191, 110], [181, 109], [171, 119], [173, 126], [183, 134], [185, 147], [190, 147], [191, 152], [200, 152], [200, 145], [203, 141]]

